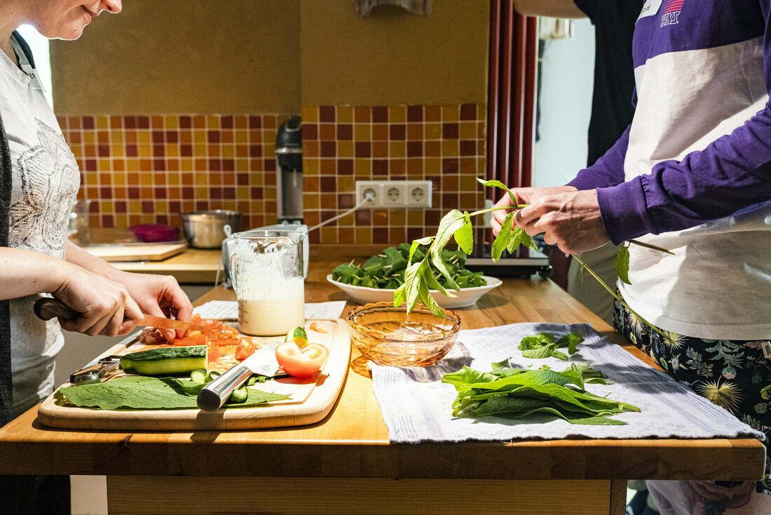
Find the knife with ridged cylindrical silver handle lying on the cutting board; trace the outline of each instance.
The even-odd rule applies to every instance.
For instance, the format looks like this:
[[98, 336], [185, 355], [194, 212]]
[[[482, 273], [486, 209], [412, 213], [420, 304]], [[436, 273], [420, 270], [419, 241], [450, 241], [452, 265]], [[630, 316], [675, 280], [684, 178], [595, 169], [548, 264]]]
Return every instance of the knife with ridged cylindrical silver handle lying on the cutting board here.
[[276, 347], [281, 342], [264, 344], [241, 363], [234, 364], [217, 379], [198, 392], [196, 403], [204, 412], [214, 412], [224, 405], [236, 388], [244, 384], [251, 374], [272, 377], [278, 372]]

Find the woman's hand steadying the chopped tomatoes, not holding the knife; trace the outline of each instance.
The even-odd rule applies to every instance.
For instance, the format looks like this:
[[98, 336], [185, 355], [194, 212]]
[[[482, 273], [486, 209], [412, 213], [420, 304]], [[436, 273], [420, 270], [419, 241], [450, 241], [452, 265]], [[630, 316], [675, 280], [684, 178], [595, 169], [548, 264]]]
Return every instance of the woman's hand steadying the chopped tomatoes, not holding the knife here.
[[[193, 316], [193, 304], [172, 276], [121, 272], [113, 274], [113, 279], [126, 286], [143, 313], [166, 318], [174, 316], [184, 322]], [[164, 329], [163, 336], [174, 341], [177, 336], [183, 337], [184, 331]]]

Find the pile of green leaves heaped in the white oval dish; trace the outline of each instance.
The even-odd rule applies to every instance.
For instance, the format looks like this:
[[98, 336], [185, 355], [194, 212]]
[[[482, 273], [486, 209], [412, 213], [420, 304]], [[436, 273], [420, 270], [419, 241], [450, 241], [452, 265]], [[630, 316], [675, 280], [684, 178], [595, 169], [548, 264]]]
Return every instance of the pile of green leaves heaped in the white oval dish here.
[[[428, 249], [425, 248], [416, 249], [413, 259], [423, 259], [427, 252]], [[362, 266], [356, 266], [353, 263], [338, 265], [332, 270], [332, 279], [353, 286], [396, 290], [404, 284], [409, 256], [409, 244], [402, 243], [399, 246], [384, 249], [379, 255], [367, 259]], [[449, 280], [460, 288], [487, 284], [487, 281], [482, 279], [481, 272], [472, 272], [465, 268], [466, 252], [443, 250], [439, 254], [439, 261], [447, 271]], [[427, 270], [427, 273], [433, 274], [439, 284], [449, 287], [449, 280], [438, 269], [430, 267]]]

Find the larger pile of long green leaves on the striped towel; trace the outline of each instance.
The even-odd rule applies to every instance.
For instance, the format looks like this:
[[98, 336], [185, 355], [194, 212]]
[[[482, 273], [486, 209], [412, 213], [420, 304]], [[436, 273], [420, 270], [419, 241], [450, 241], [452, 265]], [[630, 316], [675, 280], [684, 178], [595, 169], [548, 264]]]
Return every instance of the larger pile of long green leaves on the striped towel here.
[[609, 417], [621, 412], [639, 412], [640, 408], [584, 390], [587, 383], [611, 384], [606, 378], [588, 364], [571, 364], [561, 372], [502, 368], [501, 364], [493, 364], [490, 372], [463, 367], [445, 374], [442, 382], [455, 386], [458, 391], [453, 402], [456, 417], [527, 418], [541, 413], [563, 418], [571, 424], [626, 425]]

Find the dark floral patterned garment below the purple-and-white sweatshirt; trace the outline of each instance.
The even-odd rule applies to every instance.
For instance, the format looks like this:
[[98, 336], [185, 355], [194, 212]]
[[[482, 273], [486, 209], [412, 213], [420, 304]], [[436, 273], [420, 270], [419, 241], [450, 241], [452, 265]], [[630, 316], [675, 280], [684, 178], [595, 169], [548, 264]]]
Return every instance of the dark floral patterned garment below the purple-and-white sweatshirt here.
[[[621, 334], [672, 378], [736, 415], [752, 429], [766, 434], [766, 473], [755, 491], [771, 495], [771, 359], [763, 354], [764, 342], [702, 340], [662, 331], [669, 335], [666, 339], [618, 300], [613, 321]], [[714, 484], [731, 486], [731, 482]], [[738, 488], [739, 484], [734, 486]], [[723, 512], [717, 508], [704, 513]]]

